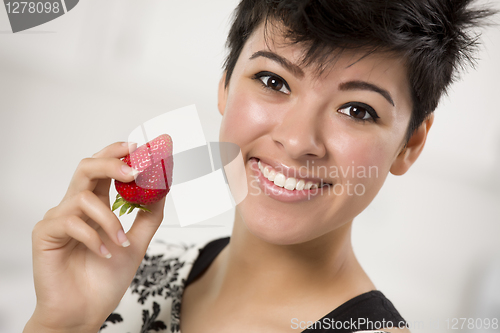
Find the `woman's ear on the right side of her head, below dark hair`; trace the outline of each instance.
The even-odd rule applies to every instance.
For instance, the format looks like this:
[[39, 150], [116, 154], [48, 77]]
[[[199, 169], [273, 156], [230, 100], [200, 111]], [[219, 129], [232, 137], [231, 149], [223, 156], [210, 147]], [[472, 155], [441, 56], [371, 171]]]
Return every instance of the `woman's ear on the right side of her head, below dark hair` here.
[[424, 122], [413, 132], [408, 144], [396, 157], [391, 166], [391, 173], [396, 176], [405, 174], [408, 169], [415, 163], [418, 156], [424, 149], [427, 134], [434, 122], [434, 113], [431, 113]]

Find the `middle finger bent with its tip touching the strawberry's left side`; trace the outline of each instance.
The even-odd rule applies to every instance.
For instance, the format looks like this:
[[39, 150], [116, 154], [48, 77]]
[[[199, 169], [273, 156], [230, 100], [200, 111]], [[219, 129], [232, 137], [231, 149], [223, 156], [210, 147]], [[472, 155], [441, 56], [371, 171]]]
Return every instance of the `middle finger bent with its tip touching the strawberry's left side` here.
[[[85, 158], [78, 165], [68, 187], [66, 196], [71, 197], [82, 191], [94, 191], [96, 194], [107, 195], [111, 178], [128, 183], [134, 180], [137, 171], [125, 162], [113, 158]], [[99, 180], [106, 180], [107, 187], [100, 186], [96, 189]]]

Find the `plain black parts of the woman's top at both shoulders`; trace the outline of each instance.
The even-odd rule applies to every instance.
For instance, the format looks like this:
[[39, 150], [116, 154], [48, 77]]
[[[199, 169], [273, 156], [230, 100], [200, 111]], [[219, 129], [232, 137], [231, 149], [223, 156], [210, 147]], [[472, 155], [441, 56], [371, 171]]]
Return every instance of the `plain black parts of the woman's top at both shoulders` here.
[[[208, 243], [200, 250], [186, 280], [187, 287], [196, 280], [215, 260], [229, 243], [229, 237], [219, 238]], [[311, 324], [311, 323], [307, 323]], [[291, 325], [304, 328], [306, 323], [291, 321]], [[300, 326], [299, 326], [300, 325]], [[388, 327], [403, 327], [406, 321], [394, 305], [378, 290], [356, 296], [340, 305], [323, 318], [317, 320], [302, 333], [338, 332], [351, 333], [363, 330], [380, 330]]]

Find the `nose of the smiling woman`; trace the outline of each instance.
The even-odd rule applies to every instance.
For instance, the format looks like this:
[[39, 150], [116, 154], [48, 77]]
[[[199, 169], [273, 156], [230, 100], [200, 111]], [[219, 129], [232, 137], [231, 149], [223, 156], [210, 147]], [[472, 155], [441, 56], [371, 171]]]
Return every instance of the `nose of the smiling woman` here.
[[282, 121], [273, 128], [273, 140], [294, 159], [325, 156], [319, 114], [310, 107], [297, 105], [284, 113]]

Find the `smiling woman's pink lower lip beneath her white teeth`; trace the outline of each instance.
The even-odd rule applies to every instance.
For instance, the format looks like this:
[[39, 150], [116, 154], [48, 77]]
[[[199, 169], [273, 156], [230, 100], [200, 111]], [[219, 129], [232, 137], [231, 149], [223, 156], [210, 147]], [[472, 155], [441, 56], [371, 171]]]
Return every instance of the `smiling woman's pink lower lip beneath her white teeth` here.
[[[252, 170], [253, 176], [256, 177], [257, 183], [259, 184], [259, 189], [264, 192], [264, 195], [268, 195], [269, 197], [282, 201], [282, 202], [299, 202], [310, 200], [313, 197], [321, 194], [323, 192], [322, 188], [315, 188], [310, 190], [287, 190], [283, 187], [276, 186], [269, 179], [264, 177], [262, 172], [259, 170], [258, 160], [255, 158], [251, 158], [249, 160], [249, 166]], [[253, 177], [253, 178], [255, 178]], [[252, 187], [254, 190], [249, 190], [249, 195], [252, 194], [252, 191], [255, 191], [255, 187]], [[260, 193], [258, 193], [260, 194]]]

